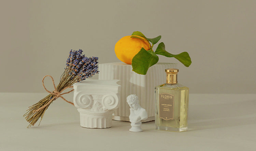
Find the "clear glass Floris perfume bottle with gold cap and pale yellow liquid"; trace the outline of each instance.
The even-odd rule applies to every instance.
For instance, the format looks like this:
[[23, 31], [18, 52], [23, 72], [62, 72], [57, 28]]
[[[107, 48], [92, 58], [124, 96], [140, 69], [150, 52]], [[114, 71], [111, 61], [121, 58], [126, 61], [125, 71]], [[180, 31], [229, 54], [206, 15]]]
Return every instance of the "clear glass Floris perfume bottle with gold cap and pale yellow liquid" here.
[[165, 69], [166, 83], [155, 87], [156, 130], [187, 130], [188, 87], [177, 83], [179, 69]]

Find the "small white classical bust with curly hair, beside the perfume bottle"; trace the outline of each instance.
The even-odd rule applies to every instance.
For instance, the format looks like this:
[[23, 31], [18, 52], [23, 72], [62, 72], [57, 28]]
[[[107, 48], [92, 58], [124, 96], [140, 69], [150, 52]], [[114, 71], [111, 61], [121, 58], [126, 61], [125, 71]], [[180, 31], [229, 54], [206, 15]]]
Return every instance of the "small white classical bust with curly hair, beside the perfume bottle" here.
[[129, 131], [142, 132], [141, 120], [147, 119], [147, 111], [140, 106], [138, 96], [129, 95], [126, 100], [131, 107], [129, 116], [131, 128]]

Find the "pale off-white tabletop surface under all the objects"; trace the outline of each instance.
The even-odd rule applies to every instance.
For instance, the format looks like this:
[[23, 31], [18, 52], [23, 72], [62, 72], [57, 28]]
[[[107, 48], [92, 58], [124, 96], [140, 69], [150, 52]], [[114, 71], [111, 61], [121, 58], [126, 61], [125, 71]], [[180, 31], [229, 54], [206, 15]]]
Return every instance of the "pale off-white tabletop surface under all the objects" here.
[[[108, 129], [80, 127], [76, 107], [54, 101], [38, 127], [27, 128], [28, 106], [46, 93], [0, 93], [0, 150], [174, 151], [256, 150], [256, 94], [190, 94], [187, 132], [157, 131], [154, 122], [143, 132], [130, 123], [112, 121]], [[72, 100], [72, 94], [64, 95]]]

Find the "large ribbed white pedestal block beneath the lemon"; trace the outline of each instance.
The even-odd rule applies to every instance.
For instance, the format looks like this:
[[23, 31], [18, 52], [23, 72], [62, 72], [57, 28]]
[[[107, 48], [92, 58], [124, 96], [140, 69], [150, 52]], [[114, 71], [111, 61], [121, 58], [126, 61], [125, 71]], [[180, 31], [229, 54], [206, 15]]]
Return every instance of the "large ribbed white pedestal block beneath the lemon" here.
[[132, 71], [132, 66], [125, 63], [99, 64], [99, 80], [118, 79], [121, 89], [119, 91], [120, 105], [114, 112], [113, 119], [129, 121], [129, 105], [126, 97], [135, 94], [139, 97], [141, 107], [148, 113], [148, 119], [142, 122], [155, 120], [154, 87], [166, 82], [165, 69], [176, 68], [176, 63], [157, 63], [150, 67], [146, 75]]

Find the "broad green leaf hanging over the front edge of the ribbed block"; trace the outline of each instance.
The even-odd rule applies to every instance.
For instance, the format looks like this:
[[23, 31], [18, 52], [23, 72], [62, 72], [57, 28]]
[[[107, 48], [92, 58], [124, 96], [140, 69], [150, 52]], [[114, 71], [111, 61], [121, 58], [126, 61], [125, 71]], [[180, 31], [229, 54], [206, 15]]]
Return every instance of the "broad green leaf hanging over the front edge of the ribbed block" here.
[[158, 56], [153, 51], [147, 51], [144, 48], [132, 58], [132, 71], [145, 75], [148, 68], [158, 62]]

